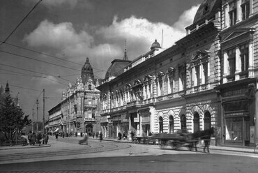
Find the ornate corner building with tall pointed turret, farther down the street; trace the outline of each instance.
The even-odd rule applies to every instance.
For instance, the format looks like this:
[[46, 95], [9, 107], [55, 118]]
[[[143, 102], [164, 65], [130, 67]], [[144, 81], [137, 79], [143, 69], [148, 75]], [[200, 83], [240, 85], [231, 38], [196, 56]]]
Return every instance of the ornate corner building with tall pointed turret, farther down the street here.
[[69, 83], [62, 101], [49, 111], [50, 130], [59, 128], [65, 133], [93, 133], [100, 131], [98, 80], [94, 79], [89, 58], [82, 67], [82, 76], [75, 85]]

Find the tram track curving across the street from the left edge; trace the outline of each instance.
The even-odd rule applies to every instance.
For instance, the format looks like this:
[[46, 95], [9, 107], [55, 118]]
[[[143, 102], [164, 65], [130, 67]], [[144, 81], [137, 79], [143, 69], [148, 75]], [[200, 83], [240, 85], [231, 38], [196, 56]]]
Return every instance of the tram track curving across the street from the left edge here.
[[[97, 147], [92, 147], [93, 143], [98, 144]], [[104, 143], [104, 142], [103, 142]], [[130, 144], [112, 144], [111, 142], [105, 142], [105, 144], [99, 144], [99, 142], [91, 142], [91, 145], [86, 145], [87, 148], [84, 149], [60, 149], [59, 151], [42, 151], [42, 152], [31, 152], [26, 153], [26, 151], [17, 151], [17, 153], [0, 155], [0, 164], [3, 161], [10, 160], [22, 160], [22, 159], [33, 159], [33, 158], [45, 158], [45, 157], [55, 157], [55, 156], [76, 156], [86, 153], [99, 153], [103, 151], [115, 151], [120, 149], [128, 149], [132, 145]], [[50, 146], [51, 147], [51, 146]]]

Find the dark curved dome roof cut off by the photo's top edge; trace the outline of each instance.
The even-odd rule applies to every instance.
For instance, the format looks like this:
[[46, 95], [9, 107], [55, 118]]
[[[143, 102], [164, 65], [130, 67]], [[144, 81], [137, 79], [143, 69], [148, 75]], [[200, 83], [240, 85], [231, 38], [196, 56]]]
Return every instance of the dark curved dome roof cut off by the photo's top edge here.
[[220, 8], [220, 0], [204, 0], [195, 14], [193, 23], [198, 22], [199, 20], [206, 20], [207, 17], [215, 15], [215, 13], [217, 13], [218, 9]]

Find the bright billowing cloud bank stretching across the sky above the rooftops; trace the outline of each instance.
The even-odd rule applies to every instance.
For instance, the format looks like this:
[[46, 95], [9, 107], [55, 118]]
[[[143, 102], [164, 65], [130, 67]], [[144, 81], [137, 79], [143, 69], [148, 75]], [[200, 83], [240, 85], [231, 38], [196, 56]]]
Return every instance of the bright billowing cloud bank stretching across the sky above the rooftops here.
[[[193, 6], [186, 10], [173, 26], [142, 17], [131, 16], [119, 20], [118, 16], [114, 16], [112, 24], [93, 26], [96, 29], [91, 34], [87, 24], [81, 31], [75, 31], [70, 22], [54, 24], [44, 20], [24, 37], [24, 41], [31, 47], [48, 47], [55, 50], [57, 55], [65, 55], [80, 63], [89, 57], [94, 68], [107, 70], [113, 59], [123, 59], [125, 40], [130, 60], [149, 51], [155, 39], [160, 44], [162, 42], [163, 48], [174, 45], [185, 36], [184, 28], [192, 24], [197, 8]], [[103, 77], [105, 72], [101, 75]]]

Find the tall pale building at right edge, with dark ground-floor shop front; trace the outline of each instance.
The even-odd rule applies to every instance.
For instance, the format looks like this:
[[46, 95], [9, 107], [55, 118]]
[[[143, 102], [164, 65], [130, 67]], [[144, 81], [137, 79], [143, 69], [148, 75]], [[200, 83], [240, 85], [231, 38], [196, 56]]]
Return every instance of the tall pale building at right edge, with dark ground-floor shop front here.
[[245, 146], [257, 142], [257, 19], [257, 0], [222, 1], [222, 82], [217, 89], [225, 144]]

